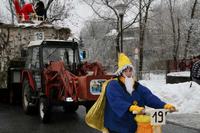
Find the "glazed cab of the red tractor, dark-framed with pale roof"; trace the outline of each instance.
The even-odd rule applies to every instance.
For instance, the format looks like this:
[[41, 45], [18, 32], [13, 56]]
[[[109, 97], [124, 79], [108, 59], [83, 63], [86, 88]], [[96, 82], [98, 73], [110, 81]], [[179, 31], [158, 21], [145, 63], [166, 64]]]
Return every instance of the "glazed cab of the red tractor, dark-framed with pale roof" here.
[[66, 41], [32, 41], [28, 45], [27, 69], [42, 70], [52, 62], [62, 62], [74, 73], [80, 63], [78, 44]]

